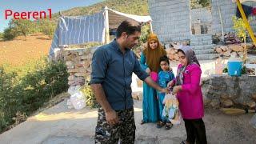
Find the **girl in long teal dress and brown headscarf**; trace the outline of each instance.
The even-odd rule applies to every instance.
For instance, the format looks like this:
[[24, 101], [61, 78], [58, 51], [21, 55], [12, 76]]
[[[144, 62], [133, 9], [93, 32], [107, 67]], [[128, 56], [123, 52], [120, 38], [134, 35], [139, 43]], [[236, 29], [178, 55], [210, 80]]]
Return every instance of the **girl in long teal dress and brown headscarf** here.
[[[147, 47], [142, 51], [141, 66], [143, 70], [146, 70], [148, 74], [154, 72], [158, 73], [161, 68], [159, 66], [160, 58], [166, 55], [164, 50], [158, 41], [156, 34], [150, 34]], [[158, 100], [157, 92], [152, 87], [143, 82], [143, 119], [141, 124], [146, 122], [158, 122], [161, 117], [158, 114]]]

